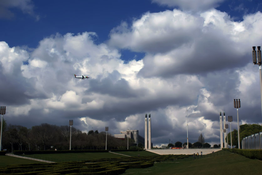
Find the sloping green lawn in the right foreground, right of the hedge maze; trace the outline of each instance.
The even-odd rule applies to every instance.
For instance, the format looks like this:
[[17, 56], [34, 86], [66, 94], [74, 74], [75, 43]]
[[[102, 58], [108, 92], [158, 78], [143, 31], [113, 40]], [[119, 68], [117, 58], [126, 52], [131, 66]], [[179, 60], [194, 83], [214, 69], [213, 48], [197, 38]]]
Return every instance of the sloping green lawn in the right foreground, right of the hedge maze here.
[[127, 169], [124, 174], [261, 174], [262, 161], [245, 158], [238, 154], [224, 154], [191, 161], [155, 163], [144, 169]]

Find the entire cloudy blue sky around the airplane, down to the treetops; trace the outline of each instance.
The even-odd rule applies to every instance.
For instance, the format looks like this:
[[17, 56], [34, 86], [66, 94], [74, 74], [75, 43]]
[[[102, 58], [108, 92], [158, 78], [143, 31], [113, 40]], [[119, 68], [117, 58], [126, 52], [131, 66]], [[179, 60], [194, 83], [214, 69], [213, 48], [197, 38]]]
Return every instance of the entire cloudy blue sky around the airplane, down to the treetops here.
[[[219, 112], [262, 123], [258, 0], [0, 1], [8, 124], [119, 134], [151, 114], [155, 146], [220, 143]], [[87, 80], [74, 78], [89, 76]]]

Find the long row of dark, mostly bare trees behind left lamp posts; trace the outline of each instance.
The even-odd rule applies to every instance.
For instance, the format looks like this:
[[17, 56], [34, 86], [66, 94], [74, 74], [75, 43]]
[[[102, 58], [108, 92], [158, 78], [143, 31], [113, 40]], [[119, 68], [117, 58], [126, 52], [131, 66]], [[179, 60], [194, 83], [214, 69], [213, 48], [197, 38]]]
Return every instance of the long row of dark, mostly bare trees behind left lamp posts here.
[[[3, 123], [2, 148], [13, 150], [68, 150], [70, 126], [56, 126], [43, 123], [28, 129], [19, 125]], [[90, 130], [82, 133], [72, 127], [71, 149], [105, 149], [106, 133]], [[129, 146], [134, 143], [128, 139]], [[127, 140], [120, 140], [107, 134], [107, 149], [127, 149]]]

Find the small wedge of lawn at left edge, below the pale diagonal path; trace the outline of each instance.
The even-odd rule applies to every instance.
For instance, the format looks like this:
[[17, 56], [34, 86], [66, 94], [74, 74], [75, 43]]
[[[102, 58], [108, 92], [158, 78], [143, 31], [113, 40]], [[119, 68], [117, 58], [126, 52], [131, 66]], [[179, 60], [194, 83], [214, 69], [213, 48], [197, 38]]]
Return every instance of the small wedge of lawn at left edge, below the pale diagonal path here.
[[15, 158], [11, 156], [0, 156], [0, 167], [4, 167], [7, 165], [29, 164], [29, 163], [44, 163], [44, 162], [38, 162], [38, 161], [28, 160], [23, 158]]

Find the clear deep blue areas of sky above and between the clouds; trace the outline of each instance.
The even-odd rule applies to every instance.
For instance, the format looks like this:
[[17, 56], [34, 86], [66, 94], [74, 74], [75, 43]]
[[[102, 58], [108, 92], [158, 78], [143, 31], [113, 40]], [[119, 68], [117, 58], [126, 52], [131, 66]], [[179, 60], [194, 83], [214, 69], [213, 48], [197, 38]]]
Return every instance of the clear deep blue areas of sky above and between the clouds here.
[[[131, 25], [134, 19], [140, 18], [145, 12], [161, 12], [173, 10], [151, 0], [143, 1], [28, 1], [33, 5], [30, 13], [19, 8], [8, 8], [13, 17], [2, 17], [0, 38], [8, 42], [10, 47], [27, 46], [35, 48], [44, 37], [60, 33], [96, 32], [95, 42], [101, 43], [109, 39], [108, 34], [113, 27], [125, 21]], [[243, 15], [255, 13], [262, 8], [259, 0], [226, 0], [219, 3], [218, 10], [227, 12], [234, 21], [242, 21]], [[33, 13], [33, 14], [32, 14]], [[122, 50], [124, 55], [135, 53]], [[139, 56], [144, 54], [136, 53]], [[123, 60], [130, 60], [123, 55]]]

